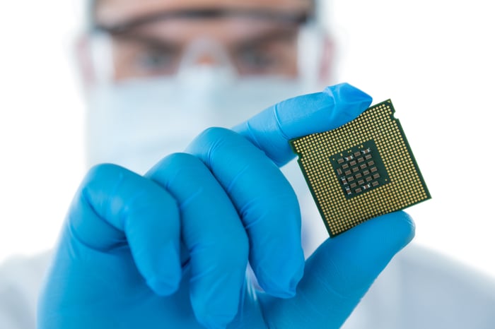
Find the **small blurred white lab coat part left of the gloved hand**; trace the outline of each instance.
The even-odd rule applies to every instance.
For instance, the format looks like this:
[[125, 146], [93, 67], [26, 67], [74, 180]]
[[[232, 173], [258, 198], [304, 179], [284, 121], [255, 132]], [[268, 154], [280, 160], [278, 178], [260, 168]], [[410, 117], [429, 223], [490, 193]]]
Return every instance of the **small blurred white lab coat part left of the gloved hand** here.
[[0, 266], [0, 328], [35, 329], [36, 304], [50, 253], [11, 258]]

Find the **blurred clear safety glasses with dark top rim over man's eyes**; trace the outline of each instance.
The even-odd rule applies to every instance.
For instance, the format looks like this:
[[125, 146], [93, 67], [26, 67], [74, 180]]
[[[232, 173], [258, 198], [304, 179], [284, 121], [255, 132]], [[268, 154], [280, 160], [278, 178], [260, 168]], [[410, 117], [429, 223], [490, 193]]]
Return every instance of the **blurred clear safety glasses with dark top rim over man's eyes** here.
[[95, 25], [91, 34], [96, 76], [112, 83], [178, 76], [191, 66], [314, 79], [322, 43], [308, 13], [247, 9], [166, 11]]

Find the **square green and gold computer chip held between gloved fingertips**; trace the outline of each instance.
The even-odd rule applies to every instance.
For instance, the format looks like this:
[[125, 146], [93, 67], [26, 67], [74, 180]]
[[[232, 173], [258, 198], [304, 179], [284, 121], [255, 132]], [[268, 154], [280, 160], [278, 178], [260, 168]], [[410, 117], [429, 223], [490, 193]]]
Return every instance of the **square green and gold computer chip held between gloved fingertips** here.
[[431, 198], [391, 100], [290, 140], [330, 237]]

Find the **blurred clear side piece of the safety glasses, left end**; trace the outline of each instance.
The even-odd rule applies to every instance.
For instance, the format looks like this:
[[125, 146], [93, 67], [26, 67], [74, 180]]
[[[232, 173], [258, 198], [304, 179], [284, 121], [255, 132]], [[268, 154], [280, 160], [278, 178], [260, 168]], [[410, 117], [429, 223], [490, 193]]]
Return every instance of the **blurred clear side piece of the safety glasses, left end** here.
[[111, 85], [114, 80], [112, 37], [105, 32], [95, 32], [89, 44], [91, 62], [97, 85]]

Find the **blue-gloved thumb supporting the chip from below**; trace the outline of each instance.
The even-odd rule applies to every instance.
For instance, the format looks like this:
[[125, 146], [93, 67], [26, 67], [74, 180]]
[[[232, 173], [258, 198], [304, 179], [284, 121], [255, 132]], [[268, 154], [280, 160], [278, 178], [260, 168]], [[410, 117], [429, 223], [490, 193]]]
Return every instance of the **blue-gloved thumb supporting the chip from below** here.
[[403, 212], [368, 220], [308, 258], [296, 297], [261, 297], [270, 328], [340, 328], [392, 257], [414, 237]]

